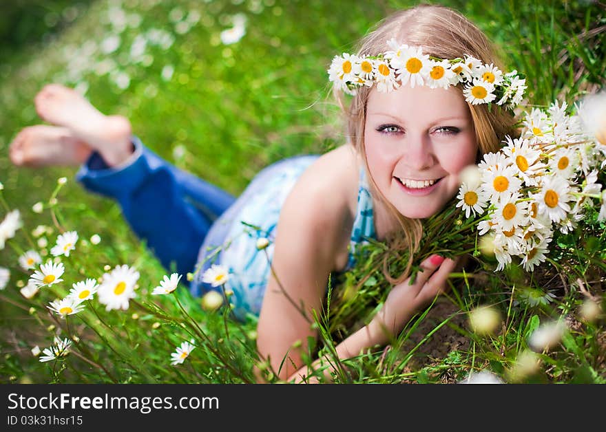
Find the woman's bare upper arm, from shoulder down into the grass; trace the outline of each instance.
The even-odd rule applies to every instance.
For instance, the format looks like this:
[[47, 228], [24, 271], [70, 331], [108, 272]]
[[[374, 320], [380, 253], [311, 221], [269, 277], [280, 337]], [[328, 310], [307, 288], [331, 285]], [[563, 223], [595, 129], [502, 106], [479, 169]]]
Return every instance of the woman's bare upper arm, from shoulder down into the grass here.
[[272, 263], [275, 277], [265, 290], [257, 346], [283, 380], [300, 369], [307, 338], [317, 336], [311, 327], [312, 311], [322, 310], [328, 275], [335, 270], [339, 253], [346, 253], [351, 234], [343, 175], [329, 161], [318, 160], [302, 175], [280, 211]]

